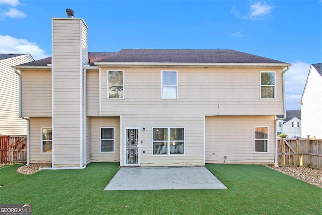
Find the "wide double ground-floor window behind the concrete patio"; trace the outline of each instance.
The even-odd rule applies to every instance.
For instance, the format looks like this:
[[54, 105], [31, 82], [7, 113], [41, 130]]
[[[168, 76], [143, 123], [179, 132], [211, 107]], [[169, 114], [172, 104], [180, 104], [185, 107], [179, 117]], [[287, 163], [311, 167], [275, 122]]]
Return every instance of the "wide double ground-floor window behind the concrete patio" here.
[[184, 128], [153, 128], [153, 155], [184, 155]]

